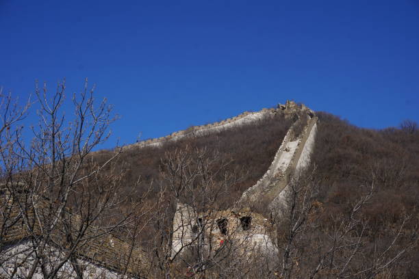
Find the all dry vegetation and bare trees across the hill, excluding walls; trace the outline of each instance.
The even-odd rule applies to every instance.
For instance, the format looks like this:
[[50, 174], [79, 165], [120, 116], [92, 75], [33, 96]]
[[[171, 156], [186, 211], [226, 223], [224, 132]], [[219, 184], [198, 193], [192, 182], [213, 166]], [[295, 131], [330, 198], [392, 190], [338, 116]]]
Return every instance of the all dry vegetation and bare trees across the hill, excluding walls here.
[[[25, 260], [30, 267], [25, 278], [40, 272], [38, 267], [45, 278], [55, 278], [67, 263], [75, 270], [68, 278], [85, 278], [86, 267], [77, 256], [86, 243], [103, 235], [129, 239], [127, 262], [135, 258], [134, 246], [147, 249], [150, 264], [142, 272], [146, 278], [419, 278], [416, 122], [377, 131], [318, 113], [312, 163], [290, 182], [281, 220], [269, 220], [277, 232], [277, 256], [255, 253], [242, 259], [231, 253], [220, 257], [201, 252], [179, 263], [171, 247], [176, 202], [186, 202], [196, 212], [232, 207], [268, 170], [292, 121], [276, 114], [203, 137], [166, 142], [159, 148], [91, 153], [107, 138], [113, 120], [110, 109], [103, 102], [95, 111], [92, 92], [82, 94], [81, 103], [75, 101], [80, 122], [66, 130], [59, 111], [64, 84], [59, 89], [52, 110], [46, 95], [37, 91], [49, 120], [40, 118], [45, 122], [34, 144], [27, 147], [19, 128], [9, 131], [14, 131], [10, 127], [25, 116], [29, 104], [17, 109], [10, 96], [2, 96], [0, 103], [6, 104], [0, 129], [1, 179], [12, 193], [0, 204], [1, 263], [10, 262], [3, 252], [10, 244], [3, 241], [7, 230], [20, 224], [22, 216], [26, 223], [34, 220], [31, 213], [38, 210], [33, 202], [22, 208], [18, 195], [27, 193], [24, 198], [29, 201], [41, 196], [52, 201], [37, 226], [21, 223], [34, 254], [33, 262]], [[80, 129], [86, 116], [102, 126], [93, 125], [93, 132], [86, 133]], [[296, 132], [302, 129], [302, 125], [296, 127]], [[18, 190], [22, 185], [25, 192]], [[54, 241], [56, 230], [64, 232], [60, 239], [64, 245]], [[47, 249], [52, 245], [63, 255], [59, 263]], [[240, 249], [232, 241], [229, 245], [229, 251]], [[15, 278], [25, 273], [20, 271], [24, 265], [14, 264]], [[125, 264], [122, 271], [129, 272], [128, 267]]]

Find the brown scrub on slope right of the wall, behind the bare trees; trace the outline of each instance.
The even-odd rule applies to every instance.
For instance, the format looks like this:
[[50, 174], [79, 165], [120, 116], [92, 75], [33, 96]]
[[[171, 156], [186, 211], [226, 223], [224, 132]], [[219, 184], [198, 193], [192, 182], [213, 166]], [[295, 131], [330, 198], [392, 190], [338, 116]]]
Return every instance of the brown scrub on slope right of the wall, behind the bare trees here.
[[[366, 243], [370, 245], [365, 248], [370, 249], [368, 261], [372, 261], [377, 250], [389, 244], [408, 216], [398, 246], [393, 247], [394, 250], [403, 248], [410, 237], [417, 237], [419, 133], [394, 128], [361, 129], [326, 113], [319, 113], [318, 117], [312, 163], [321, 181], [319, 198], [325, 207], [320, 225], [326, 231], [331, 230], [336, 218], [347, 216], [365, 193], [366, 185], [374, 185], [372, 197], [359, 212], [368, 228], [365, 233]], [[398, 278], [418, 278], [415, 252], [419, 253], [417, 247], [404, 263], [386, 272]], [[354, 264], [360, 267], [368, 261]]]

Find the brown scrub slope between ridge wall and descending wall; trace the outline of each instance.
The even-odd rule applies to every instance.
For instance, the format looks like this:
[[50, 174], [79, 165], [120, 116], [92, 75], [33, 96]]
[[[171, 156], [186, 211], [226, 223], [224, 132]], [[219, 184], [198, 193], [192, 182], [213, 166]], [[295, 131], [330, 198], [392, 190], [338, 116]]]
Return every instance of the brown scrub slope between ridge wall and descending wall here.
[[[268, 170], [275, 152], [281, 145], [285, 133], [290, 127], [290, 120], [277, 114], [270, 118], [246, 124], [233, 129], [226, 129], [203, 137], [190, 137], [177, 142], [166, 142], [162, 147], [134, 146], [123, 152], [119, 159], [125, 171], [123, 187], [127, 192], [141, 178], [138, 186], [139, 191], [149, 190], [152, 186], [149, 198], [155, 199], [162, 184], [166, 183], [161, 177], [164, 170], [165, 159], [173, 156], [176, 152], [184, 150], [201, 150], [207, 148], [211, 152], [218, 152], [214, 169], [223, 165], [225, 172], [236, 176], [236, 183], [228, 189], [228, 196], [222, 196], [218, 205], [227, 209], [236, 202], [242, 192], [251, 187]], [[112, 151], [102, 150], [94, 156], [99, 161], [105, 161], [112, 156]], [[219, 176], [219, 180], [223, 175]], [[164, 185], [163, 185], [164, 186]]]

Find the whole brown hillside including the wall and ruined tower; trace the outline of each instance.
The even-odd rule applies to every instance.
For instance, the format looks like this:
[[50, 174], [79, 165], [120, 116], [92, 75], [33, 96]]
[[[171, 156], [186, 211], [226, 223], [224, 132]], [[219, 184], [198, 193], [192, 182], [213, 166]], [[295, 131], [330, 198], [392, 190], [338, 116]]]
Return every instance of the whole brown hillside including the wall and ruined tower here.
[[[107, 211], [86, 225], [91, 231], [97, 220], [101, 230], [117, 224], [84, 244], [107, 243], [107, 254], [87, 258], [101, 265], [96, 274], [105, 270], [112, 278], [124, 265], [133, 278], [418, 278], [419, 131], [415, 124], [402, 128], [361, 129], [288, 101], [92, 152], [82, 175], [93, 168], [94, 176], [74, 188], [66, 212], [78, 224], [91, 221], [86, 210]], [[18, 176], [31, 181], [27, 174]], [[13, 189], [4, 185], [7, 209]], [[16, 191], [25, 204], [30, 189]], [[29, 197], [31, 204], [37, 196]], [[26, 230], [16, 220], [1, 227], [2, 240], [14, 234], [7, 247], [29, 243], [19, 244]], [[66, 235], [56, 230], [54, 237]], [[28, 237], [30, 230], [21, 240]], [[124, 247], [120, 256], [110, 252], [115, 247]]]

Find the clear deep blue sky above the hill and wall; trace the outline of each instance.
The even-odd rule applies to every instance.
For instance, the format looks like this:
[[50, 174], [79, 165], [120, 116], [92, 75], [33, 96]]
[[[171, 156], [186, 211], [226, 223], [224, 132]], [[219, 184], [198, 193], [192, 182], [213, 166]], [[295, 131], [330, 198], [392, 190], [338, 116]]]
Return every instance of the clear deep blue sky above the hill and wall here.
[[286, 99], [380, 129], [419, 120], [419, 1], [0, 0], [0, 65], [21, 97], [88, 77], [123, 143]]

